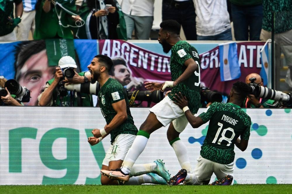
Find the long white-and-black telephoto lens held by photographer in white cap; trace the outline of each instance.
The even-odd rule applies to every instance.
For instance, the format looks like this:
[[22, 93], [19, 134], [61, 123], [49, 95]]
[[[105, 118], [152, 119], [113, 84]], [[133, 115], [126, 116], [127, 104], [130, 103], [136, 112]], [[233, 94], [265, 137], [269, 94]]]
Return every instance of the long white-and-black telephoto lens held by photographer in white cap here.
[[94, 94], [97, 95], [99, 92], [99, 83], [95, 82], [94, 84], [87, 82], [82, 84], [69, 84], [64, 86], [66, 90], [77, 91], [85, 94]]

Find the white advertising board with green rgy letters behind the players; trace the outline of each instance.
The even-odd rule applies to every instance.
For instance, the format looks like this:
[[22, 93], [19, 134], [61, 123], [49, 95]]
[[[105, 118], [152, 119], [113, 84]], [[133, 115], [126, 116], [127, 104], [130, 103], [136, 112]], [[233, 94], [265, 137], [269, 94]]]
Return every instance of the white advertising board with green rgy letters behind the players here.
[[[149, 108], [130, 109], [139, 128]], [[198, 114], [204, 110], [200, 108]], [[234, 148], [236, 183], [292, 184], [291, 109], [244, 110], [250, 115], [252, 126], [247, 149]], [[105, 126], [100, 108], [1, 106], [0, 111], [9, 113], [3, 114], [0, 122], [0, 185], [100, 184], [100, 169], [110, 137], [95, 146], [87, 142], [92, 129]], [[193, 169], [208, 124], [196, 129], [188, 124], [180, 134]], [[167, 140], [167, 128], [150, 135], [136, 164], [163, 159], [173, 176], [181, 167]], [[213, 175], [210, 182], [214, 180]]]

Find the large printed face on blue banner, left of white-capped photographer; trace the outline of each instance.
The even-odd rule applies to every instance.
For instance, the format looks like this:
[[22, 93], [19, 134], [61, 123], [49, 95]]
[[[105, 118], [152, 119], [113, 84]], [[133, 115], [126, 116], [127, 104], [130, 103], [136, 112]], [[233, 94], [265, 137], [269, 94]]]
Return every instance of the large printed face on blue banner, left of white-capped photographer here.
[[37, 97], [44, 91], [46, 82], [55, 74], [55, 67], [48, 66], [46, 50], [29, 57], [20, 71], [19, 84], [31, 91], [29, 105], [38, 105]]

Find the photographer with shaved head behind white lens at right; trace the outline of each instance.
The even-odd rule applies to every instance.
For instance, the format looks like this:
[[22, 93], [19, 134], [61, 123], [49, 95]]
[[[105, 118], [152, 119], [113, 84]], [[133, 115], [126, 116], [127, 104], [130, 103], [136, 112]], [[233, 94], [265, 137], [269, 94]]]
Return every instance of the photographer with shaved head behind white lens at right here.
[[[245, 83], [251, 84], [251, 78], [255, 78], [253, 84], [263, 86], [262, 78], [257, 73], [251, 73], [246, 76]], [[276, 107], [274, 105], [275, 100], [264, 99], [264, 98], [257, 98], [253, 94], [249, 94], [247, 98], [244, 100], [243, 108], [269, 108], [269, 107]]]

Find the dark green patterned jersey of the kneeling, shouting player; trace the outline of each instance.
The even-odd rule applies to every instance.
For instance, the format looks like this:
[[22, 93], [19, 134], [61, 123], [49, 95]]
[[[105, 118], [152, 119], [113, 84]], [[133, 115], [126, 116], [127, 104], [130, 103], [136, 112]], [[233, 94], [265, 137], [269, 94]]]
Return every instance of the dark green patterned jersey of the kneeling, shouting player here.
[[100, 110], [105, 117], [105, 121], [109, 124], [117, 112], [112, 107], [113, 103], [121, 100], [126, 100], [128, 119], [117, 128], [110, 132], [111, 142], [120, 134], [137, 135], [138, 129], [134, 125], [133, 117], [130, 112], [128, 97], [123, 89], [123, 86], [115, 79], [109, 78], [98, 92], [98, 99], [100, 102]]

